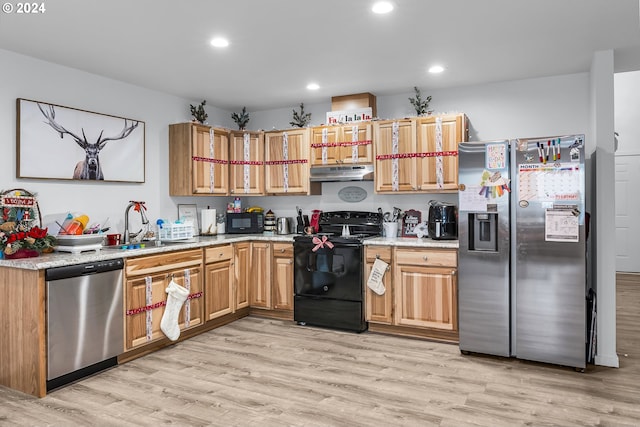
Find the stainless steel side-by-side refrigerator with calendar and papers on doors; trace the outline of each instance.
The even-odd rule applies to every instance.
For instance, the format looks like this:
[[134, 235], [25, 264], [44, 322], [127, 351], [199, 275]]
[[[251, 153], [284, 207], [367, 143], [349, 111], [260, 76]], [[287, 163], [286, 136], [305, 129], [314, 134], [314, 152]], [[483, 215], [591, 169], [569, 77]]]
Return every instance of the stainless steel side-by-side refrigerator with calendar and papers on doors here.
[[458, 155], [460, 350], [584, 368], [584, 136]]

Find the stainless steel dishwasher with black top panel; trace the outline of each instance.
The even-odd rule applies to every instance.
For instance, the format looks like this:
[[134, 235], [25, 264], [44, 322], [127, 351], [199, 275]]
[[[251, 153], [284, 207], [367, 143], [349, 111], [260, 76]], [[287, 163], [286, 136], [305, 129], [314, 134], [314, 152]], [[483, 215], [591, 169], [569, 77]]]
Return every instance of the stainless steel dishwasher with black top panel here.
[[117, 364], [123, 265], [119, 258], [45, 270], [47, 390]]

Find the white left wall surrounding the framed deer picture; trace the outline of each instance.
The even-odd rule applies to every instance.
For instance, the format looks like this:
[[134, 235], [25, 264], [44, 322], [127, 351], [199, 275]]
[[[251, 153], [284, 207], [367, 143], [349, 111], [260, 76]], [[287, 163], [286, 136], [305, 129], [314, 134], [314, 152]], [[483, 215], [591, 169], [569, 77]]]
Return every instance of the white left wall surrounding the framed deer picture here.
[[[168, 196], [167, 125], [189, 120], [189, 104], [200, 100], [180, 99], [5, 50], [0, 50], [0, 64], [0, 146], [5, 153], [4, 166], [0, 168], [0, 189], [22, 188], [36, 193], [41, 214], [47, 220], [64, 217], [67, 212], [81, 212], [87, 214], [91, 222], [109, 218], [112, 229], [119, 231], [124, 226], [124, 210], [129, 200], [145, 201], [149, 219], [154, 222], [159, 217], [175, 219], [176, 203], [188, 203]], [[145, 183], [17, 179], [16, 98], [144, 121]], [[211, 123], [229, 124], [228, 112], [212, 107], [207, 111]], [[60, 142], [72, 144], [66, 139]], [[118, 149], [116, 143], [104, 148], [113, 149]], [[22, 153], [22, 156], [26, 155], [28, 153]], [[132, 230], [140, 224], [134, 215], [131, 215], [131, 223]]]

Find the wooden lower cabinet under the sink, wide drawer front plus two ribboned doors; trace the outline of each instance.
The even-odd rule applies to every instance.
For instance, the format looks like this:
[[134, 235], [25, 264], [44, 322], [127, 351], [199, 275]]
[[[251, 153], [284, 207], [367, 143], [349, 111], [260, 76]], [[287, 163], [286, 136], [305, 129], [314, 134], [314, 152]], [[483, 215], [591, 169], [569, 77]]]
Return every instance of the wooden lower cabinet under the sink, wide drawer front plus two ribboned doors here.
[[[171, 280], [189, 289], [180, 310], [180, 330], [204, 322], [202, 251], [188, 250], [130, 258], [125, 261], [125, 349], [165, 338], [160, 329]], [[148, 326], [147, 326], [148, 325]]]

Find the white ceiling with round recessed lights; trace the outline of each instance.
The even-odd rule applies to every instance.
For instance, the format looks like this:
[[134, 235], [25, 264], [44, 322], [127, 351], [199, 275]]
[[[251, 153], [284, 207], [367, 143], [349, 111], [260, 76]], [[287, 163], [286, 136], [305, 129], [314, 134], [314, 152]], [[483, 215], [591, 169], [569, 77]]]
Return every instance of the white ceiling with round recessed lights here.
[[640, 69], [638, 0], [395, 0], [382, 16], [372, 3], [49, 0], [0, 13], [0, 49], [231, 111], [579, 73], [607, 49], [616, 71]]

